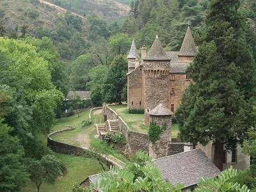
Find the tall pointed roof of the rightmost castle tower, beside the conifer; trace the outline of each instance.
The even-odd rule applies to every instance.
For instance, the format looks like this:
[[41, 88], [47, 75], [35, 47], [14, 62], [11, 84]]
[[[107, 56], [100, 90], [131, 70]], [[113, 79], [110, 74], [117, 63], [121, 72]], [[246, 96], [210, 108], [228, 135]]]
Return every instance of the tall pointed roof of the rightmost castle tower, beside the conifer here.
[[196, 44], [194, 42], [191, 30], [188, 26], [186, 35], [184, 37], [184, 40], [180, 48], [179, 56], [194, 56], [196, 52], [197, 52]]

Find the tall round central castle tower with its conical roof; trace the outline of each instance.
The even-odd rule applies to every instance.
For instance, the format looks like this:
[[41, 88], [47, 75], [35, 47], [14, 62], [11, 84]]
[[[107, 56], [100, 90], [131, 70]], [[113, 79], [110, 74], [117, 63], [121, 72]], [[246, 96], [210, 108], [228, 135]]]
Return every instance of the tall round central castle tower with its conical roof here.
[[149, 125], [149, 112], [156, 108], [157, 104], [170, 103], [169, 71], [170, 58], [166, 56], [161, 42], [156, 36], [150, 51], [143, 59], [143, 70], [145, 74], [145, 125]]

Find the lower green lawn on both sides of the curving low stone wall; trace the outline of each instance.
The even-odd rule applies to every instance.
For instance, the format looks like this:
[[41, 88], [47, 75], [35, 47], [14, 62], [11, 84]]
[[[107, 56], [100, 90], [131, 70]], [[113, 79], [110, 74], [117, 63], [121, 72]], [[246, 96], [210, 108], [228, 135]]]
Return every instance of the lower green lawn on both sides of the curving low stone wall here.
[[[80, 113], [80, 117], [78, 115], [73, 115], [73, 116], [58, 119], [56, 122], [56, 125], [52, 128], [52, 132], [58, 131], [61, 129], [67, 129], [68, 126], [76, 127], [74, 131], [65, 132], [65, 134], [67, 135], [64, 135], [64, 134], [58, 135], [58, 137], [60, 137], [61, 140], [63, 140], [63, 138], [64, 140], [68, 140], [68, 137], [70, 138], [72, 136], [76, 137], [76, 135], [79, 134], [79, 132], [86, 132], [90, 130], [92, 125], [82, 127], [82, 122], [83, 120], [88, 119], [89, 113], [90, 113], [90, 109], [84, 111], [83, 113]], [[94, 130], [91, 129], [91, 131], [93, 132]], [[90, 134], [90, 131], [88, 131], [88, 134]], [[63, 136], [63, 138], [61, 138], [61, 136]], [[46, 145], [47, 143], [46, 136], [40, 135], [38, 136], [38, 138], [42, 140]], [[54, 139], [56, 138], [54, 137]], [[78, 145], [77, 143], [72, 143], [72, 144]], [[54, 156], [58, 157], [58, 159], [60, 159], [60, 161], [67, 166], [68, 173], [64, 178], [56, 180], [53, 186], [47, 183], [43, 183], [42, 186], [40, 187], [40, 191], [42, 192], [70, 191], [70, 188], [76, 182], [81, 183], [89, 175], [97, 174], [100, 172], [100, 170], [102, 170], [102, 166], [100, 166], [100, 164], [95, 159], [88, 159], [80, 156], [68, 156], [68, 155], [56, 154], [56, 153], [54, 153]], [[26, 187], [23, 188], [22, 191], [23, 192], [36, 191], [36, 185], [33, 182], [28, 182], [26, 184]]]

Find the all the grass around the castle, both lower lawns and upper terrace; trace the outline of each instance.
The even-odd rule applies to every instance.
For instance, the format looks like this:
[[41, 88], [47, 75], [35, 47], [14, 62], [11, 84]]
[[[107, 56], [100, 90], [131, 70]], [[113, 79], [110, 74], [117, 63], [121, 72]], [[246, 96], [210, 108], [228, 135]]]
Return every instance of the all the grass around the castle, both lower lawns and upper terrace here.
[[[143, 114], [129, 114], [127, 111], [126, 105], [117, 105], [117, 106], [109, 106], [111, 109], [115, 110], [116, 113], [127, 123], [129, 128], [132, 131], [139, 132], [148, 132], [148, 128], [143, 124], [144, 115]], [[104, 123], [103, 116], [99, 113], [92, 114], [92, 122], [96, 122], [97, 124]], [[61, 129], [67, 129], [68, 127], [76, 127], [74, 131], [64, 132], [57, 136], [54, 136], [54, 140], [63, 141], [66, 143], [70, 143], [72, 145], [77, 145], [79, 147], [88, 147], [90, 143], [99, 142], [94, 138], [95, 135], [95, 127], [94, 124], [87, 125], [82, 127], [83, 120], [88, 120], [88, 116], [90, 113], [90, 109], [73, 116], [68, 116], [65, 118], [60, 118], [56, 121], [56, 125], [52, 128], [52, 132], [58, 131]], [[172, 125], [172, 138], [177, 137], [177, 133], [179, 132], [177, 124]], [[38, 135], [38, 139], [42, 140], [45, 145], [47, 144], [47, 137], [40, 134]], [[84, 145], [84, 146], [81, 146]], [[111, 154], [121, 161], [127, 163], [127, 159], [118, 153], [116, 150], [111, 148]], [[100, 164], [95, 161], [95, 159], [88, 159], [79, 156], [68, 156], [64, 154], [56, 154], [54, 153], [61, 162], [65, 163], [67, 166], [68, 173], [64, 178], [56, 180], [55, 184], [49, 185], [43, 183], [40, 187], [40, 191], [42, 192], [67, 192], [70, 191], [70, 188], [73, 184], [81, 183], [84, 179], [86, 179], [89, 175], [94, 175], [102, 170]], [[36, 191], [36, 185], [32, 182], [28, 182], [26, 187], [22, 189], [22, 192], [32, 192]]]

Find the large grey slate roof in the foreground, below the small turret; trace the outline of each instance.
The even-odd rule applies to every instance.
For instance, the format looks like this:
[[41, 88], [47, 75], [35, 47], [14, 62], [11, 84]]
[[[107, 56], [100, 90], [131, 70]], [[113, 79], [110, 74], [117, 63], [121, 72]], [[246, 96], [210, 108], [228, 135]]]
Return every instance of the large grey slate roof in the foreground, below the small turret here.
[[173, 185], [183, 183], [184, 188], [195, 185], [200, 177], [209, 179], [221, 173], [200, 148], [155, 159], [154, 164], [163, 178]]

